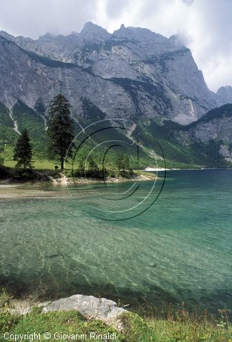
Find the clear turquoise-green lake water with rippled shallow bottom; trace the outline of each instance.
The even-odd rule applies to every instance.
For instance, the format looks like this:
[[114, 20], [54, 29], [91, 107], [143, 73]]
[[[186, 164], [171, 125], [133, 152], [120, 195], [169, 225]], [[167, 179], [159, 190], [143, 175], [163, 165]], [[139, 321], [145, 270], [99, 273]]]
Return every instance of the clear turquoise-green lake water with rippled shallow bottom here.
[[[92, 215], [128, 209], [150, 188], [144, 182], [123, 207], [105, 199], [99, 185], [0, 200], [0, 285], [18, 294], [232, 309], [232, 171], [170, 171], [162, 194], [142, 215], [118, 222]], [[128, 185], [109, 189], [126, 192]]]

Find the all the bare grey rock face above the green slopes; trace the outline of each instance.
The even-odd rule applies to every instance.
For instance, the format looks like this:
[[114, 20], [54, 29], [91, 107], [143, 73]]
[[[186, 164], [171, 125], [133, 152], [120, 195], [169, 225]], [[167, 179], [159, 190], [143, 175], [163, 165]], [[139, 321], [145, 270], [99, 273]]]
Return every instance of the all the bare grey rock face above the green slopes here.
[[0, 36], [0, 101], [8, 107], [17, 98], [48, 105], [63, 92], [76, 117], [87, 99], [109, 118], [188, 124], [221, 103], [177, 36], [124, 25], [109, 34], [92, 23], [69, 36]]

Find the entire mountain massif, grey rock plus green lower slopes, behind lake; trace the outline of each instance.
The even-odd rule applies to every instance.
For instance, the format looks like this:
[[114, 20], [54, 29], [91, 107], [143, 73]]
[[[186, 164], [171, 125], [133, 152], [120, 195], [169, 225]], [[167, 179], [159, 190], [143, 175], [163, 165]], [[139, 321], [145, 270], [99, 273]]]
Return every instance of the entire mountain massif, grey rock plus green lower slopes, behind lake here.
[[207, 88], [179, 36], [124, 25], [109, 34], [93, 23], [79, 33], [38, 40], [0, 32], [5, 144], [27, 127], [42, 150], [47, 109], [62, 92], [72, 105], [76, 132], [98, 120], [126, 119], [129, 139], [140, 137], [150, 156], [158, 141], [169, 166], [224, 166], [231, 162], [231, 135], [223, 133], [231, 127], [231, 107], [220, 106], [232, 102], [231, 89], [215, 94]]

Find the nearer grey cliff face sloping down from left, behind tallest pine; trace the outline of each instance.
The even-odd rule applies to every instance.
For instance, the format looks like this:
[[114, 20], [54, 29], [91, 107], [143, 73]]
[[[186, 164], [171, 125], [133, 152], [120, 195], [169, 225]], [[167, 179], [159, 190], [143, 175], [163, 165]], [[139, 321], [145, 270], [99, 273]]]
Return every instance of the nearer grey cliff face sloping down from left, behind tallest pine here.
[[[34, 108], [38, 98], [45, 105], [63, 92], [73, 105], [73, 115], [81, 113], [82, 98], [90, 98], [109, 117], [124, 112], [133, 114], [131, 96], [118, 84], [74, 64], [42, 60], [27, 53], [14, 42], [0, 37], [0, 101], [12, 107], [17, 99]], [[109, 101], [110, 100], [110, 101]]]

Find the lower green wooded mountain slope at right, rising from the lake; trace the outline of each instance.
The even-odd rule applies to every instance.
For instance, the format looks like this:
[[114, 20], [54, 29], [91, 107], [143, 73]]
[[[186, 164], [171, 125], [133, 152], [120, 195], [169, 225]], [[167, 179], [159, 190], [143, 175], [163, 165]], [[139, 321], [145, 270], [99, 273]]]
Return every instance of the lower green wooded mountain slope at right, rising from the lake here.
[[226, 168], [232, 163], [232, 105], [212, 109], [188, 125], [171, 120], [162, 124], [153, 119], [140, 122], [134, 135], [153, 150], [162, 147], [168, 167]]

